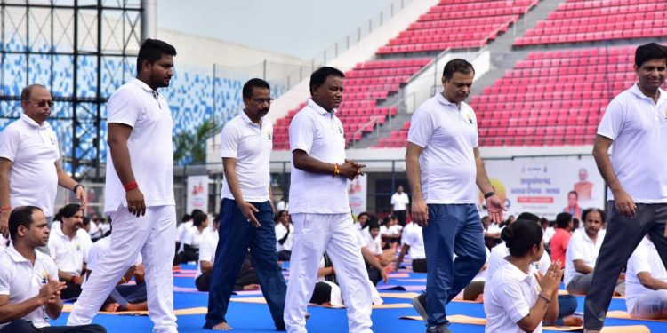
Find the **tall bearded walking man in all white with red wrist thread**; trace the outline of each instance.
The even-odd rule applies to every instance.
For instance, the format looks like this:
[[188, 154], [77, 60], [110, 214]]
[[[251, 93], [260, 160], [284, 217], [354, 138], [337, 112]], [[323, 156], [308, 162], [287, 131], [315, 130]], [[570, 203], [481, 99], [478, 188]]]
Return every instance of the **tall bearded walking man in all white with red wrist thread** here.
[[153, 332], [177, 331], [172, 274], [173, 119], [166, 99], [157, 92], [169, 86], [175, 55], [172, 45], [146, 39], [137, 56], [136, 78], [108, 99], [104, 210], [113, 220], [111, 250], [85, 282], [68, 325], [92, 321], [141, 251]]

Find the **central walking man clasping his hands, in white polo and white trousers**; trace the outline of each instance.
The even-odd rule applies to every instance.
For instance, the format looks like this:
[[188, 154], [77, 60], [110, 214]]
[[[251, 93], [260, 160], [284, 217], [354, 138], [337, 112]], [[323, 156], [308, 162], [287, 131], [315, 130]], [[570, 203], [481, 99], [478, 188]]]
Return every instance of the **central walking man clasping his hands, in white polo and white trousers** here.
[[373, 325], [368, 273], [347, 190], [348, 179], [357, 178], [364, 165], [345, 158], [345, 134], [335, 115], [342, 101], [344, 77], [333, 67], [313, 72], [311, 99], [290, 124], [289, 202], [294, 243], [285, 303], [285, 326], [290, 333], [306, 332], [306, 306], [325, 250], [341, 281], [350, 332], [371, 332]]

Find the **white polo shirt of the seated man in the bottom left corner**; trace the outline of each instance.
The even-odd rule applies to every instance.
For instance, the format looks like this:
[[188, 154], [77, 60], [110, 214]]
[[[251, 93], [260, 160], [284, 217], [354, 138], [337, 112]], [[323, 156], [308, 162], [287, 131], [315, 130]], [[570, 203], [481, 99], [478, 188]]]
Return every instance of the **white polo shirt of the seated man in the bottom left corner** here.
[[[33, 265], [28, 259], [10, 245], [7, 250], [0, 252], [0, 295], [9, 295], [9, 304], [15, 305], [27, 301], [39, 294], [39, 289], [51, 280], [58, 280], [58, 267], [52, 258], [40, 251], [35, 251], [36, 258]], [[50, 326], [44, 306], [38, 307], [23, 319], [32, 321], [36, 328]], [[0, 324], [3, 329], [7, 323]]]

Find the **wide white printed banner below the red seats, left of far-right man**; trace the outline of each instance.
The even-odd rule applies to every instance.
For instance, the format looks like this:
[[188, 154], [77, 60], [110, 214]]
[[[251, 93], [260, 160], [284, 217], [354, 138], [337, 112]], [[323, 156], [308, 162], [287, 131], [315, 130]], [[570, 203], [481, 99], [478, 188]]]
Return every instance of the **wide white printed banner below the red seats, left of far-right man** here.
[[[495, 193], [505, 202], [505, 217], [528, 211], [555, 218], [562, 211], [605, 209], [605, 182], [592, 156], [485, 161]], [[575, 194], [569, 194], [575, 191]], [[479, 194], [480, 206], [484, 197]], [[482, 211], [486, 214], [486, 211]]]

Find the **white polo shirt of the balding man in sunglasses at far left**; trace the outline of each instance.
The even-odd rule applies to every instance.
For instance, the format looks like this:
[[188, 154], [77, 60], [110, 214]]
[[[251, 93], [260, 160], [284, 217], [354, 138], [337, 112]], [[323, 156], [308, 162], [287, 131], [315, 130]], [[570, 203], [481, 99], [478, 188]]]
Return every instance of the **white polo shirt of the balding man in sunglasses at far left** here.
[[52, 217], [58, 192], [55, 163], [58, 139], [49, 123], [39, 125], [26, 114], [0, 133], [0, 157], [12, 161], [9, 197], [12, 207], [36, 206]]

